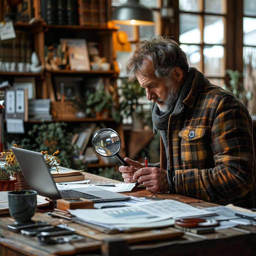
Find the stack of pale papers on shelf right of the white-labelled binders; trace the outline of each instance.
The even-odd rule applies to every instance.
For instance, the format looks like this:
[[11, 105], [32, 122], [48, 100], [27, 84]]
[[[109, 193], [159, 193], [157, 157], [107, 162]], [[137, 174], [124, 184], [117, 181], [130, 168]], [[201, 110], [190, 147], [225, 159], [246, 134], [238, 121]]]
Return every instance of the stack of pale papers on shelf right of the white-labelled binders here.
[[28, 101], [28, 116], [29, 119], [51, 121], [50, 114], [51, 100], [50, 99], [33, 99]]

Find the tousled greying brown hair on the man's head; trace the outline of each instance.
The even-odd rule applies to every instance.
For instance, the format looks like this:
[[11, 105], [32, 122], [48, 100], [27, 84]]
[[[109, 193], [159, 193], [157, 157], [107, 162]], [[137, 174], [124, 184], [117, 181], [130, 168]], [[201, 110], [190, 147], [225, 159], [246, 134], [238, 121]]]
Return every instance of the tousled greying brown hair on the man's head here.
[[[152, 63], [153, 73], [149, 73], [146, 66]], [[132, 57], [129, 59], [126, 71], [128, 81], [136, 80], [136, 74], [143, 76], [155, 75], [158, 78], [169, 78], [174, 67], [188, 71], [188, 61], [185, 52], [172, 38], [167, 36], [143, 39], [135, 45]]]

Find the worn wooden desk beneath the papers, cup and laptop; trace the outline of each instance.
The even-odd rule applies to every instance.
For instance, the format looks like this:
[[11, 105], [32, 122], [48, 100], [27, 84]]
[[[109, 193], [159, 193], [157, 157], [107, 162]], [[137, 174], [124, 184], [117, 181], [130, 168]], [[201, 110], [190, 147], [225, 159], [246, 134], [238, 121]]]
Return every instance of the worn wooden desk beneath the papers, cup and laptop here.
[[[94, 174], [85, 173], [86, 179], [91, 179], [91, 182], [96, 183], [114, 183], [117, 182], [112, 179], [100, 177]], [[133, 196], [151, 196], [152, 193], [147, 192], [143, 188], [135, 188], [133, 192], [123, 193]], [[201, 201], [194, 198], [158, 194], [158, 197], [178, 200], [187, 204], [191, 204], [198, 208], [206, 208], [216, 206], [209, 202]], [[34, 220], [44, 219], [53, 224], [59, 222], [58, 219], [48, 216], [46, 213], [36, 213]], [[58, 244], [41, 246], [36, 241], [36, 238], [29, 238], [8, 231], [6, 225], [12, 223], [11, 217], [4, 217], [0, 220], [0, 255], [39, 255], [39, 256], [53, 256], [53, 255], [253, 255], [253, 242], [256, 238], [255, 226], [239, 225], [235, 228], [219, 230], [210, 234], [192, 234], [184, 232], [184, 235], [179, 239], [167, 239], [162, 241], [149, 241], [140, 243], [131, 243], [129, 237], [131, 234], [104, 234], [99, 231], [78, 225], [83, 234], [87, 234], [88, 239], [85, 242], [78, 242], [72, 244]], [[69, 225], [69, 223], [67, 224]], [[70, 223], [70, 225], [74, 225]], [[180, 231], [175, 228], [166, 228], [166, 231]], [[143, 232], [136, 232], [137, 235], [143, 236]], [[101, 241], [93, 238], [101, 237]]]

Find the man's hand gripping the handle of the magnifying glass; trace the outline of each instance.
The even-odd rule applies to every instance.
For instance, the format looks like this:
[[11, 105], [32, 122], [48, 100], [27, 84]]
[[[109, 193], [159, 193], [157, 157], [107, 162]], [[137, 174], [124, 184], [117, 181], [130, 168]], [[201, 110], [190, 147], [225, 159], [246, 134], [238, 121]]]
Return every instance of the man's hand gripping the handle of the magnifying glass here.
[[125, 157], [124, 161], [129, 164], [130, 166], [120, 166], [119, 171], [122, 173], [122, 177], [124, 179], [124, 182], [126, 183], [132, 183], [137, 182], [137, 180], [133, 179], [133, 174], [143, 167], [145, 167], [143, 164], [133, 161], [130, 158]]

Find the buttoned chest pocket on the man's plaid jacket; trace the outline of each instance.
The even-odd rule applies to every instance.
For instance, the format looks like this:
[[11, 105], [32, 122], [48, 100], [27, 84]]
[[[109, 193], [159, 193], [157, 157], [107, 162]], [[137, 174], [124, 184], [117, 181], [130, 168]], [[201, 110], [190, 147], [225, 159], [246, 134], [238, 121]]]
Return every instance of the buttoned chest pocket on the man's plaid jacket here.
[[185, 164], [204, 163], [208, 158], [207, 126], [187, 126], [179, 132], [181, 158]]

